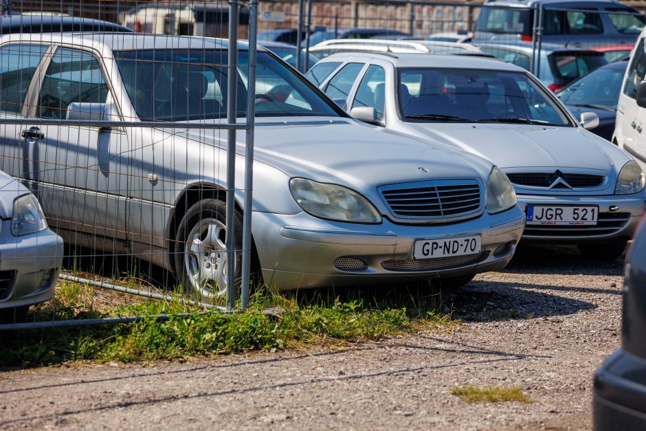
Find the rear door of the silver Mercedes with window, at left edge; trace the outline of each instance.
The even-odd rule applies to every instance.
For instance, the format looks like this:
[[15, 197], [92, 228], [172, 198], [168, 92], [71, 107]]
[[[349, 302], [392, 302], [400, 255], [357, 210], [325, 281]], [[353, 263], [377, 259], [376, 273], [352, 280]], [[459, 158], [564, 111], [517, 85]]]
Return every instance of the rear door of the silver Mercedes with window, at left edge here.
[[[4, 118], [25, 118], [30, 82], [47, 45], [11, 43], [0, 47], [0, 115]], [[21, 137], [21, 134], [27, 137]], [[30, 127], [0, 122], [0, 169], [19, 179], [32, 177], [29, 161], [33, 157], [34, 140]]]

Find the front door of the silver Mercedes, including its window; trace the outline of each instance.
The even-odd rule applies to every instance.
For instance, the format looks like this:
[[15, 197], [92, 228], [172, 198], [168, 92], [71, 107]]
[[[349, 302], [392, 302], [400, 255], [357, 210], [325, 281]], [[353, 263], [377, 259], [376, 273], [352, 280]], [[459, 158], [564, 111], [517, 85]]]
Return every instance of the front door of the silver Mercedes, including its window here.
[[[67, 118], [72, 103], [115, 107], [97, 56], [81, 49], [58, 47], [41, 77], [30, 116], [62, 120]], [[123, 251], [118, 249], [126, 248], [128, 237], [126, 196], [130, 170], [124, 131], [43, 124], [38, 132], [41, 139], [36, 139], [31, 160], [32, 180], [50, 225], [89, 234], [75, 236], [77, 244], [81, 241], [84, 245]]]

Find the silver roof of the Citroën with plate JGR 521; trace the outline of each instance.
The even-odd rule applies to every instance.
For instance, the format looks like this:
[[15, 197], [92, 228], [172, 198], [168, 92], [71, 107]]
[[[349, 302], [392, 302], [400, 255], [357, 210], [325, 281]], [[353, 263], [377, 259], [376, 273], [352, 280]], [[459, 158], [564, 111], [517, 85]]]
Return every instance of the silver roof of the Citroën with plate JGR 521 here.
[[[452, 56], [443, 54], [379, 54], [371, 52], [339, 52], [331, 54], [319, 63], [339, 60], [362, 60], [368, 61], [372, 58], [380, 58], [392, 63], [394, 67], [443, 67], [452, 69], [489, 69], [503, 71], [522, 71], [526, 70], [511, 63], [504, 63], [493, 58], [469, 57], [469, 56]], [[317, 64], [319, 64], [317, 63]]]

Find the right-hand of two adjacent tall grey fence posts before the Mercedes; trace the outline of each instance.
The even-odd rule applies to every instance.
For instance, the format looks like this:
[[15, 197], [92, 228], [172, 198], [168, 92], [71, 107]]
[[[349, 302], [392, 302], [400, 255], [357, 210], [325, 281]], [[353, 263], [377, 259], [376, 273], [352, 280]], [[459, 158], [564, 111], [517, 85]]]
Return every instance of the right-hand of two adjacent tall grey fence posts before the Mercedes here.
[[[252, 210], [254, 190], [254, 126], [256, 124], [256, 44], [258, 38], [258, 0], [249, 5], [249, 73], [247, 78], [247, 148], [245, 151], [245, 212], [243, 213], [243, 261], [240, 307], [249, 305], [252, 258]], [[300, 54], [300, 47], [297, 55]], [[306, 63], [307, 64], [307, 63]]]

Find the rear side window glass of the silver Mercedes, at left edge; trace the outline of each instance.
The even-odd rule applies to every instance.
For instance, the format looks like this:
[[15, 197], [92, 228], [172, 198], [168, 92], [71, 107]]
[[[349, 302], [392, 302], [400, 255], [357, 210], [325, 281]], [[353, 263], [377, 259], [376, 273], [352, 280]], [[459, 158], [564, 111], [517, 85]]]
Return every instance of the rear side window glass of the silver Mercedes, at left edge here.
[[0, 111], [22, 111], [29, 83], [46, 50], [40, 45], [0, 48]]

